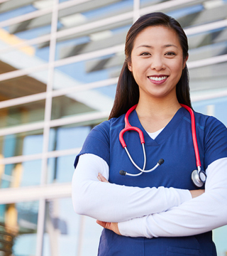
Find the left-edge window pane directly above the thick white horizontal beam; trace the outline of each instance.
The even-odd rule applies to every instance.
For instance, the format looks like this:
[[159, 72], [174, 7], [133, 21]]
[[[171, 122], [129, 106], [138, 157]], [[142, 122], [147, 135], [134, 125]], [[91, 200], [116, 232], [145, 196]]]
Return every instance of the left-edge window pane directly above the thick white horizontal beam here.
[[17, 164], [0, 164], [0, 188], [38, 186], [41, 178], [41, 160]]

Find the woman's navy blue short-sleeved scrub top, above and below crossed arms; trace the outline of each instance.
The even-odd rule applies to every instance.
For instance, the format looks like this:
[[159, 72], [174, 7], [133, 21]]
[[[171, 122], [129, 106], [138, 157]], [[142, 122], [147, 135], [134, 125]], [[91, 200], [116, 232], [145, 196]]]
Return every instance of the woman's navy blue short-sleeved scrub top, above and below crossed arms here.
[[[201, 159], [201, 170], [217, 159], [227, 157], [227, 130], [214, 117], [194, 112], [196, 119], [196, 134]], [[110, 119], [94, 127], [88, 135], [81, 154], [96, 154], [109, 165], [109, 182], [126, 186], [184, 188], [196, 189], [191, 180], [191, 174], [196, 169], [196, 159], [192, 141], [190, 114], [180, 108], [165, 129], [151, 139], [143, 129], [138, 115], [134, 110], [129, 116], [132, 126], [142, 130], [145, 137], [147, 164], [150, 169], [159, 159], [165, 163], [155, 171], [138, 177], [121, 176], [120, 170], [138, 174], [126, 151], [121, 146], [118, 136], [124, 128], [124, 114]], [[137, 132], [129, 131], [123, 136], [128, 151], [138, 166], [143, 167], [143, 149]], [[74, 166], [79, 159], [77, 156]], [[161, 200], [161, 198], [160, 198]], [[152, 202], [151, 202], [152, 203]], [[158, 255], [204, 255], [215, 256], [216, 248], [212, 241], [212, 233], [193, 235], [182, 238], [129, 238], [116, 235], [111, 230], [104, 229], [99, 244], [99, 256], [158, 256]]]

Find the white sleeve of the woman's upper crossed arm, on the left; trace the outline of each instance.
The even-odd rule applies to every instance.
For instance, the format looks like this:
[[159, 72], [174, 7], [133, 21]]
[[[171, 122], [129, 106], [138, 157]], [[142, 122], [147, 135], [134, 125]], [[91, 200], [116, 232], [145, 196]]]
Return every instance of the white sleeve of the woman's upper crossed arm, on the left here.
[[90, 155], [89, 161], [80, 156], [72, 180], [72, 201], [77, 213], [98, 220], [121, 222], [160, 213], [192, 198], [189, 191], [177, 188], [138, 188], [100, 182], [99, 172], [106, 179], [109, 176], [105, 164], [98, 156]]

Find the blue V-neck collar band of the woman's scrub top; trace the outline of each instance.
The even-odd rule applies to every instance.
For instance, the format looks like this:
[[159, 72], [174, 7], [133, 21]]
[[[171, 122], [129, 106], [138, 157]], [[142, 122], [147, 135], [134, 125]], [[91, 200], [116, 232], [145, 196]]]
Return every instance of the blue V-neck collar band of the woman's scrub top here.
[[184, 107], [179, 108], [177, 112], [175, 113], [174, 117], [170, 120], [170, 122], [167, 124], [167, 126], [160, 132], [160, 134], [157, 135], [155, 139], [152, 139], [149, 134], [145, 131], [142, 124], [140, 123], [140, 120], [138, 118], [138, 114], [135, 110], [129, 115], [129, 122], [131, 126], [138, 127], [143, 132], [143, 136], [145, 139], [145, 145], [147, 146], [157, 146], [159, 144], [162, 144], [165, 142], [173, 132], [177, 129], [180, 122], [182, 122], [183, 117], [187, 113], [187, 110], [184, 109]]

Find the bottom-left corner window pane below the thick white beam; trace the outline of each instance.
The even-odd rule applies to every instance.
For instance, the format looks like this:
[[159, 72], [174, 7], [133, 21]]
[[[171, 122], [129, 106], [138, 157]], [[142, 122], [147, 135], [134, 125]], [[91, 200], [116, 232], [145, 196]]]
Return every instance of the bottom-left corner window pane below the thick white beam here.
[[0, 205], [1, 252], [35, 255], [37, 220], [38, 201]]

